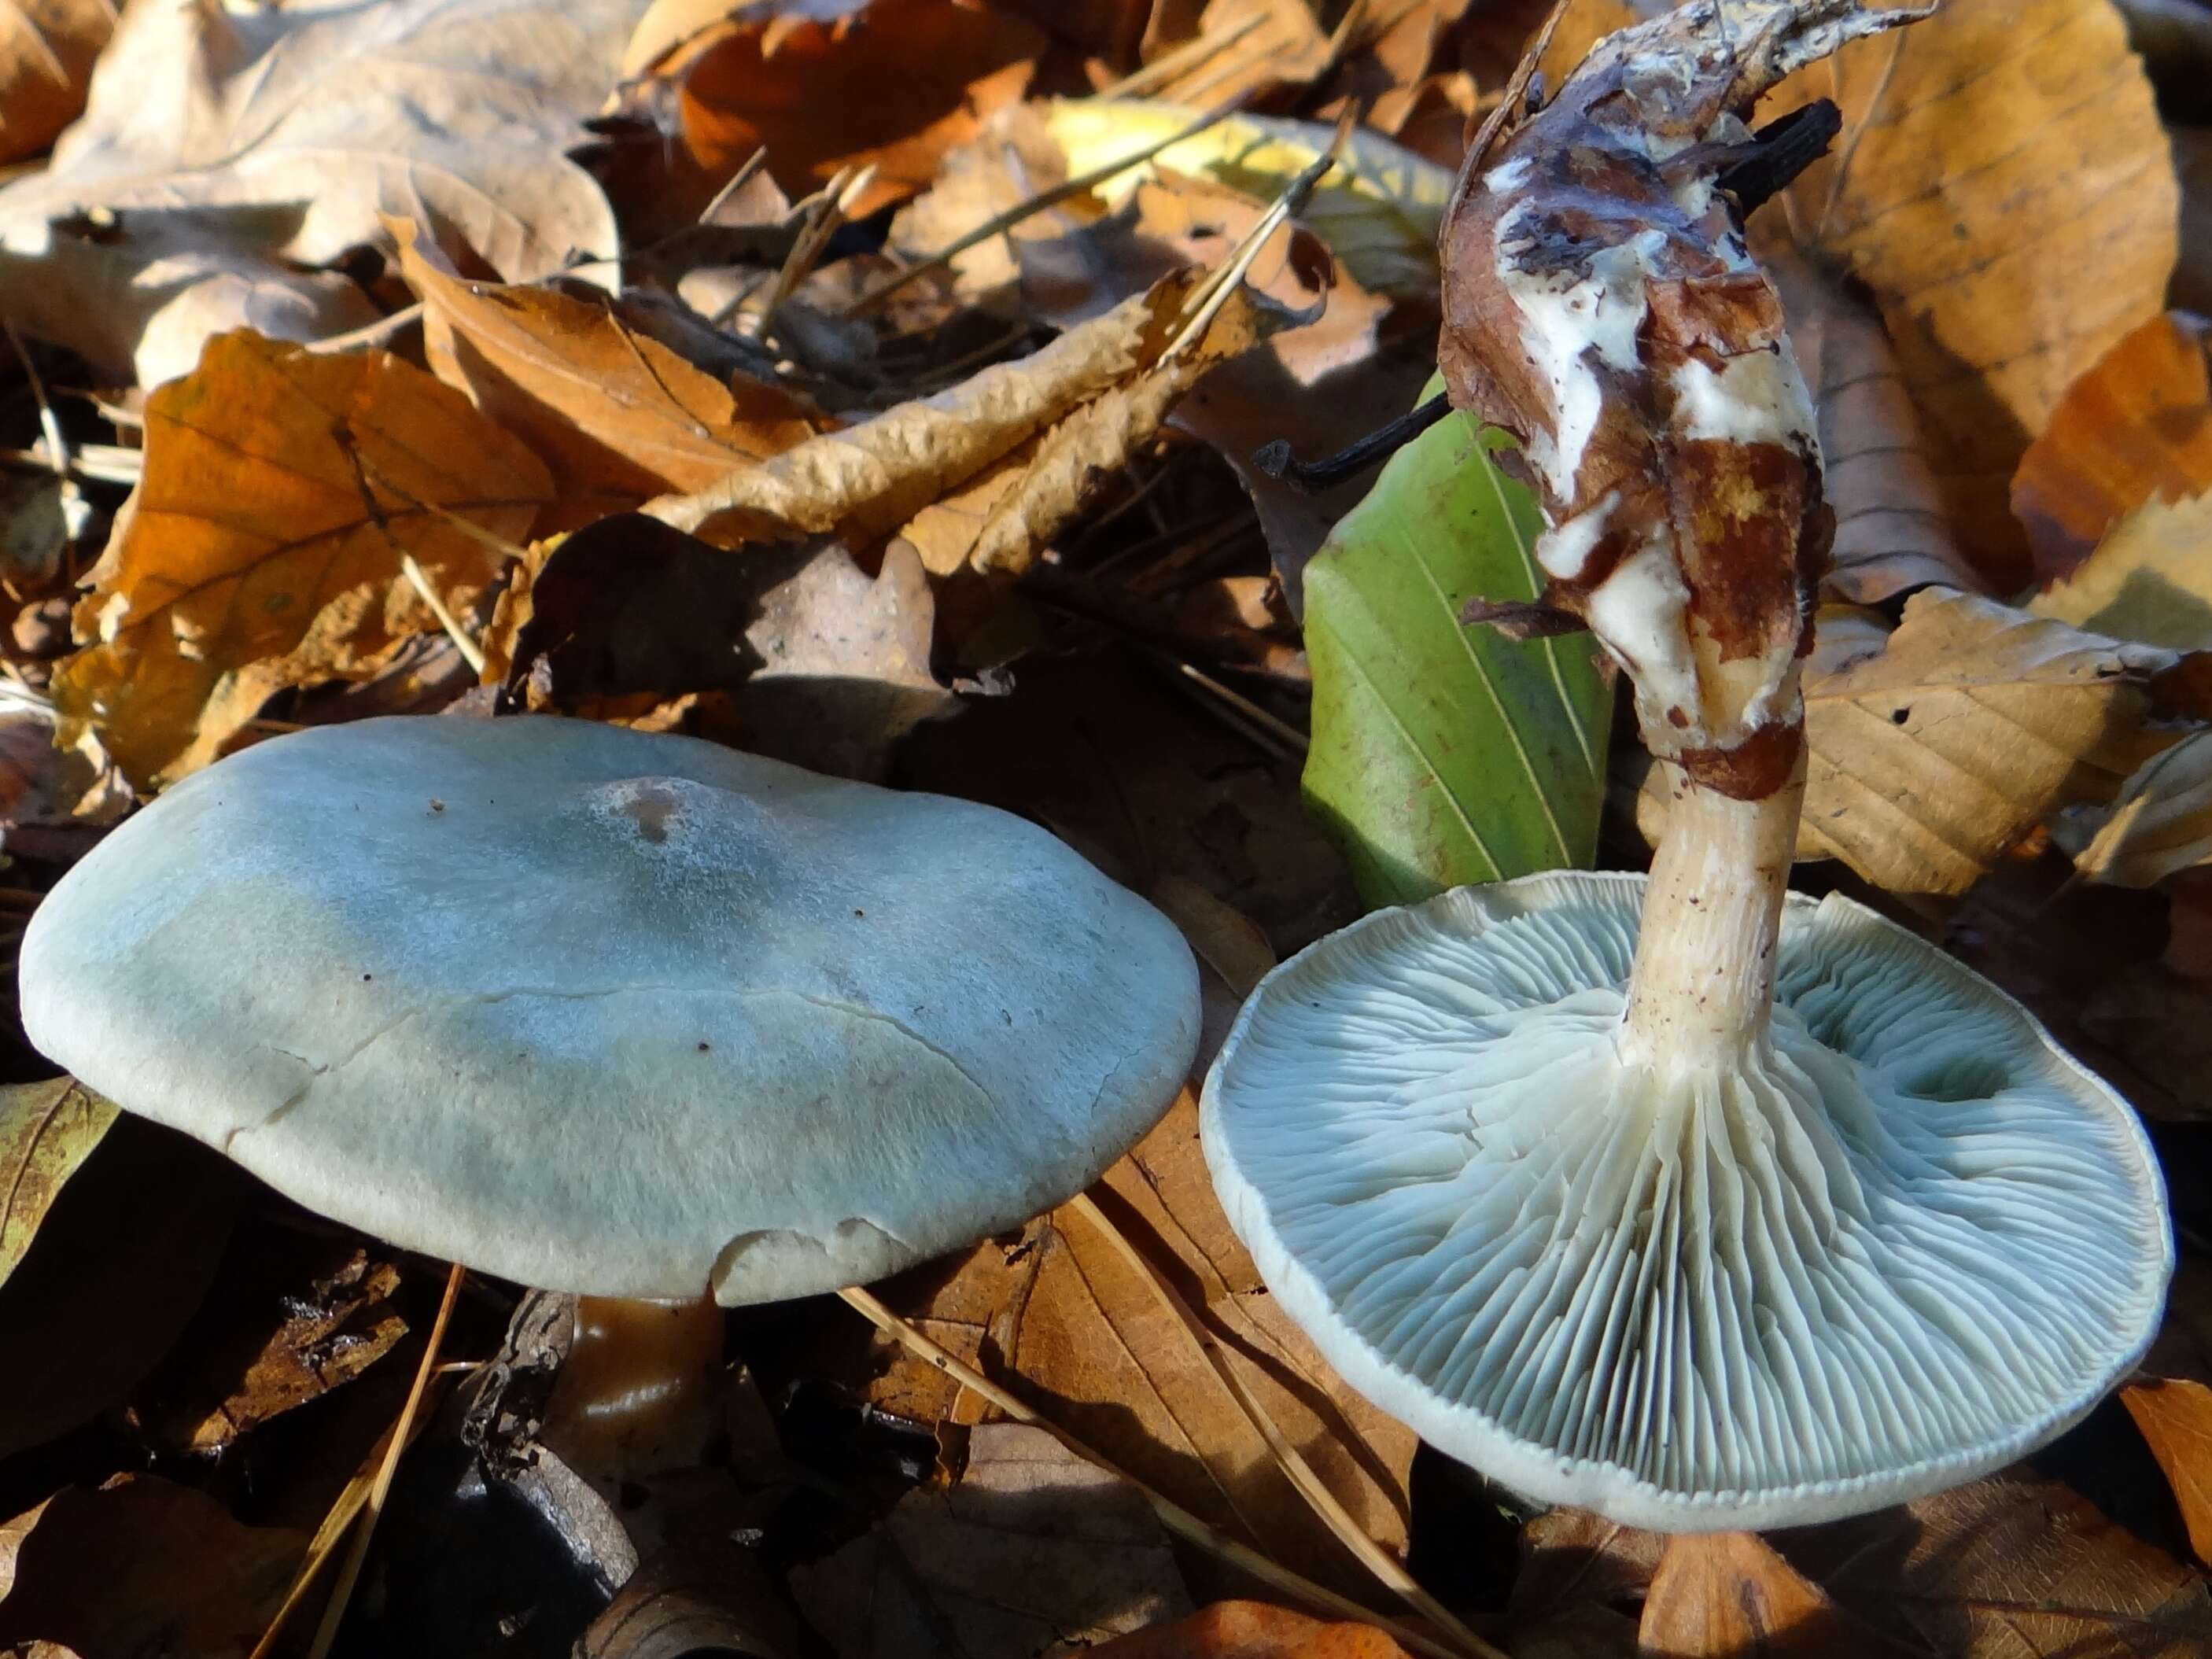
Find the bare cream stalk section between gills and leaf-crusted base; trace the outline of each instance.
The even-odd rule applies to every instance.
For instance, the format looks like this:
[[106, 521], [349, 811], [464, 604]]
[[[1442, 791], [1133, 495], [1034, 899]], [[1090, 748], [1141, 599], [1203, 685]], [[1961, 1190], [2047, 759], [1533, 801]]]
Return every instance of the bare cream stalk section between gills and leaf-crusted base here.
[[1644, 889], [1619, 1051], [1659, 1071], [1736, 1066], [1765, 1044], [1805, 765], [1763, 801], [1683, 779]]

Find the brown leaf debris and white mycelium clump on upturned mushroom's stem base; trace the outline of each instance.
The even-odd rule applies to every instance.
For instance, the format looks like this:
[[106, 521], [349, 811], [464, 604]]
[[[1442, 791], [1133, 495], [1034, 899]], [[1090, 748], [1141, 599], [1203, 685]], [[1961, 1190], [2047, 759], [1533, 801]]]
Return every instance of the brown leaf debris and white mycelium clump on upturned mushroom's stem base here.
[[1725, 796], [1765, 799], [1798, 765], [1829, 549], [1812, 398], [1736, 195], [1787, 144], [1745, 117], [1913, 15], [1697, 0], [1610, 35], [1471, 153], [1444, 223], [1444, 385], [1524, 445], [1553, 524], [1546, 604], [1630, 672], [1646, 748]]

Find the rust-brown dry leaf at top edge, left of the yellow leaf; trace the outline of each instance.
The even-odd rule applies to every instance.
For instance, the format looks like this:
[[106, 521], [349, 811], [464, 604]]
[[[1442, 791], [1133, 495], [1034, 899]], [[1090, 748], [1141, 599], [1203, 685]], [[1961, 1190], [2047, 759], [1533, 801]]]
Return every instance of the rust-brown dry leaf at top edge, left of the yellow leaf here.
[[1024, 18], [947, 0], [712, 11], [659, 0], [630, 38], [624, 80], [675, 84], [684, 144], [708, 173], [765, 148], [776, 184], [799, 197], [838, 168], [874, 166], [852, 204], [867, 215], [925, 188], [945, 150], [1018, 102], [1044, 46]]

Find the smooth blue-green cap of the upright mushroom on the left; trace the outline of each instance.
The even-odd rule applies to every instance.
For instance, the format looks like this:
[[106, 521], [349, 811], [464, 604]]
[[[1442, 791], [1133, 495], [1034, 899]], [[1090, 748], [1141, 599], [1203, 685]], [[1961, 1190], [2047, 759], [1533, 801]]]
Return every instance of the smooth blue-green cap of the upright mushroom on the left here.
[[250, 748], [22, 949], [44, 1053], [301, 1203], [723, 1303], [1082, 1190], [1175, 1097], [1197, 1009], [1181, 933], [1022, 818], [535, 717]]

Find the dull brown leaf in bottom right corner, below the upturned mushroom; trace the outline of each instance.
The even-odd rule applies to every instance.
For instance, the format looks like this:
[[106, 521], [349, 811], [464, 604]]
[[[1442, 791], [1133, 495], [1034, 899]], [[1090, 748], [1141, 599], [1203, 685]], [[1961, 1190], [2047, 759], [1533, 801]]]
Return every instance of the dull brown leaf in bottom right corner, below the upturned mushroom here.
[[1942, 1659], [2201, 1659], [2212, 1588], [2024, 1471], [1774, 1535], [1845, 1613]]

